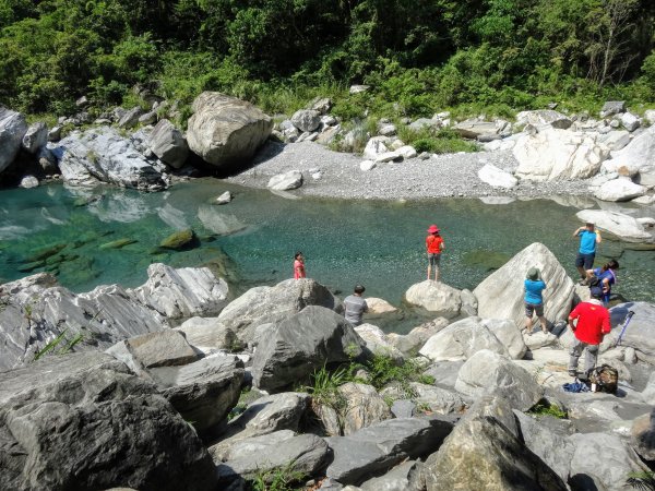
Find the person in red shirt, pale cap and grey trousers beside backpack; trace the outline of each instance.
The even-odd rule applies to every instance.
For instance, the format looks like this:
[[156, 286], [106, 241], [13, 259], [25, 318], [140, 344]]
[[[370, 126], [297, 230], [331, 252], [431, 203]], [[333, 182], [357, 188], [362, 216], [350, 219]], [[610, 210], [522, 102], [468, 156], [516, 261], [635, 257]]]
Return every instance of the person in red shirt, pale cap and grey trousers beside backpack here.
[[[577, 376], [577, 360], [583, 350], [586, 350], [584, 360], [584, 373], [596, 367], [598, 360], [598, 345], [603, 337], [611, 331], [609, 324], [609, 311], [603, 307], [603, 289], [591, 288], [592, 299], [588, 302], [579, 303], [569, 314], [569, 327], [575, 335], [571, 347], [569, 359], [569, 375]], [[577, 323], [573, 322], [577, 320]]]

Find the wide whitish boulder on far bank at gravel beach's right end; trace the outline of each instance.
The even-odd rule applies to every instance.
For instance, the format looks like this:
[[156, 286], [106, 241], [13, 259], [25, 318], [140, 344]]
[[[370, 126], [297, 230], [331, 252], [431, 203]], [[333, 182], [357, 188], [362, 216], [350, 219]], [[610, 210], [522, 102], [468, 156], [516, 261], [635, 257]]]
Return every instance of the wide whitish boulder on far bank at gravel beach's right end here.
[[519, 160], [516, 177], [561, 181], [596, 175], [608, 151], [587, 133], [547, 129], [521, 136], [513, 153]]

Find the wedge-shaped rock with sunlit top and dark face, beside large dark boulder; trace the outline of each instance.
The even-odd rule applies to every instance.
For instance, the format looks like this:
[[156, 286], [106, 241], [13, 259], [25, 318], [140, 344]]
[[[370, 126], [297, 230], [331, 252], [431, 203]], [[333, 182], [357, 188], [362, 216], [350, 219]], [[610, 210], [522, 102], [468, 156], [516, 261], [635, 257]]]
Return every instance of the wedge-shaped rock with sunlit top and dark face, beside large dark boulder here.
[[237, 357], [217, 355], [148, 373], [184, 421], [204, 433], [224, 421], [239, 400], [243, 363]]

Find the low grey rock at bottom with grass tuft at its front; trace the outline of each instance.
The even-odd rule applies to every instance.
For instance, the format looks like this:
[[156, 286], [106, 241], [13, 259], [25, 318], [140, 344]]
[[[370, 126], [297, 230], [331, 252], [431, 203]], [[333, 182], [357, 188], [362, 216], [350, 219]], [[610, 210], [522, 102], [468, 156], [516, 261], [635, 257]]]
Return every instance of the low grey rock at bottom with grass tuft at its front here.
[[[274, 434], [257, 436], [251, 448], [241, 448], [239, 458], [227, 460], [217, 466], [221, 482], [229, 482], [239, 478], [254, 478], [258, 474], [274, 469], [293, 469], [313, 476], [325, 468], [329, 459], [327, 444], [313, 434], [299, 434], [278, 441]], [[269, 441], [270, 443], [266, 443]], [[247, 441], [241, 442], [241, 446]]]

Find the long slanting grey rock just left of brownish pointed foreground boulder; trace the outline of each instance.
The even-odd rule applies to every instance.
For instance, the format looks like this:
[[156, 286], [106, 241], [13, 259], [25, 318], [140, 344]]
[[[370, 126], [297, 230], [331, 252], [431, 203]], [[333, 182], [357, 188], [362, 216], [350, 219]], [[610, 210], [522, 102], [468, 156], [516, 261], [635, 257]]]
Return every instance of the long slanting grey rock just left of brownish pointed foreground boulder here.
[[434, 452], [452, 428], [443, 418], [390, 419], [348, 436], [331, 436], [326, 441], [334, 460], [325, 474], [344, 484], [359, 484], [406, 458]]

